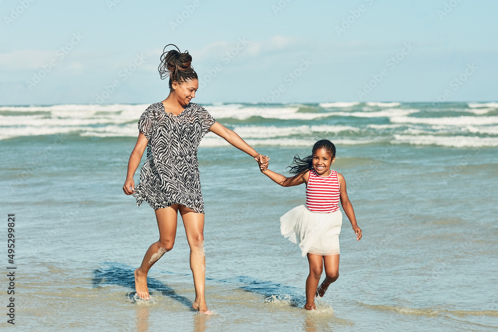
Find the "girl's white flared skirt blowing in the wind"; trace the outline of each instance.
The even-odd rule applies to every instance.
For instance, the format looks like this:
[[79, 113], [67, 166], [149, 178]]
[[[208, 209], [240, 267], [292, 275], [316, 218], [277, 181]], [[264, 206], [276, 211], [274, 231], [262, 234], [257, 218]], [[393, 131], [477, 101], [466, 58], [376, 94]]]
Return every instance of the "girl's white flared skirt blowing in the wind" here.
[[342, 212], [317, 213], [300, 205], [280, 217], [280, 232], [297, 243], [302, 256], [339, 254]]

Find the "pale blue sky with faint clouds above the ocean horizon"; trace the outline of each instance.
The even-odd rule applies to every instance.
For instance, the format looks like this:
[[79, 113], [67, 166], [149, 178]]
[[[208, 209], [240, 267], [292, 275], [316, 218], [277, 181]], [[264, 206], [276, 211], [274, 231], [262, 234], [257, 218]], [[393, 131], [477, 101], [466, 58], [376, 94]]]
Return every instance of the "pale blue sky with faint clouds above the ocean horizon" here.
[[160, 101], [169, 43], [193, 56], [201, 104], [496, 101], [497, 12], [491, 0], [1, 0], [0, 104]]

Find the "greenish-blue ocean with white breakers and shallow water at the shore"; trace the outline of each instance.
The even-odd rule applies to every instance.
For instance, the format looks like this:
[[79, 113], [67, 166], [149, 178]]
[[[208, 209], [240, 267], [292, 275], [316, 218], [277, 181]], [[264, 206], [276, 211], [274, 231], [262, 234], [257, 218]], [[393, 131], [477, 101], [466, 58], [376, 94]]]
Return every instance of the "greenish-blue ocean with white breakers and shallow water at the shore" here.
[[340, 277], [317, 311], [302, 310], [308, 262], [279, 217], [304, 204], [305, 187], [279, 187], [207, 134], [209, 317], [190, 308], [181, 219], [149, 272], [152, 299], [130, 299], [133, 270], [158, 239], [154, 211], [122, 190], [147, 106], [0, 107], [1, 329], [13, 303], [18, 331], [498, 330], [498, 103], [204, 105], [282, 174], [315, 141], [334, 142], [363, 230], [357, 242], [344, 215]]

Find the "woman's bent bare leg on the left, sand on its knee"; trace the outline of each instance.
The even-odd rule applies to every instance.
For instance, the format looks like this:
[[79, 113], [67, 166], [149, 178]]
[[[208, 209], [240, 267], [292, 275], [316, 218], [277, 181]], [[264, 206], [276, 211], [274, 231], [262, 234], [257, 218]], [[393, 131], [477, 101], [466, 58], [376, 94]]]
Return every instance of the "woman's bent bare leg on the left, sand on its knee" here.
[[178, 204], [168, 208], [155, 210], [157, 226], [159, 227], [159, 241], [152, 243], [142, 259], [142, 264], [135, 270], [135, 290], [140, 299], [149, 299], [147, 288], [147, 273], [159, 258], [173, 248], [176, 236], [176, 219]]

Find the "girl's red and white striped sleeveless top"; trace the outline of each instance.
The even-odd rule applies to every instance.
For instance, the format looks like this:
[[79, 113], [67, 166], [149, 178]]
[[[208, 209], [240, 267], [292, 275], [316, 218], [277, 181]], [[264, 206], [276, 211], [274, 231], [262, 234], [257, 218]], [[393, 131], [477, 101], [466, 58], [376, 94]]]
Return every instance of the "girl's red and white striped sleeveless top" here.
[[327, 177], [310, 170], [306, 186], [306, 207], [311, 212], [330, 213], [339, 210], [339, 178], [337, 172], [331, 169]]

